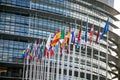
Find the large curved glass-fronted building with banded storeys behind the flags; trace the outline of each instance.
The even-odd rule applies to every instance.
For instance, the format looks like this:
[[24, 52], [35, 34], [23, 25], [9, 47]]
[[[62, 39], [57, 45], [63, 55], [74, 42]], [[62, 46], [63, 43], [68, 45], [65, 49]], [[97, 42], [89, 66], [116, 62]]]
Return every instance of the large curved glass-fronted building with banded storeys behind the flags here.
[[[120, 13], [112, 8], [112, 5], [108, 1], [104, 3], [100, 0], [0, 0], [0, 79], [22, 80], [23, 59], [21, 58], [21, 52], [27, 47], [28, 43], [46, 39], [50, 33], [53, 36], [55, 31], [60, 28], [67, 30], [70, 27], [73, 30], [76, 26], [82, 28], [81, 53], [73, 54], [71, 49], [69, 58], [65, 54], [64, 60], [60, 59], [63, 60], [59, 64], [60, 75], [56, 72], [58, 65], [55, 64], [54, 67], [50, 67], [50, 70], [54, 70], [54, 73], [50, 71], [51, 75], [46, 77], [49, 76], [50, 80], [53, 79], [51, 76], [55, 77], [53, 80], [57, 80], [58, 77], [61, 80], [67, 78], [69, 80], [84, 78], [90, 80], [92, 73], [93, 80], [97, 80], [98, 76], [100, 80], [105, 80], [107, 37], [105, 35], [100, 43], [100, 55], [98, 55], [98, 45], [94, 44], [93, 46], [87, 46], [88, 51], [85, 56], [84, 32], [88, 17], [88, 32], [93, 23], [95, 26], [94, 43], [98, 26], [100, 25], [100, 29], [102, 29], [109, 17], [107, 77], [109, 80], [115, 78], [120, 80], [120, 37], [112, 31], [117, 28], [112, 23], [112, 21], [118, 20], [114, 15]], [[93, 56], [91, 51], [93, 51]], [[55, 59], [51, 57], [51, 60], [57, 61], [57, 57]]]

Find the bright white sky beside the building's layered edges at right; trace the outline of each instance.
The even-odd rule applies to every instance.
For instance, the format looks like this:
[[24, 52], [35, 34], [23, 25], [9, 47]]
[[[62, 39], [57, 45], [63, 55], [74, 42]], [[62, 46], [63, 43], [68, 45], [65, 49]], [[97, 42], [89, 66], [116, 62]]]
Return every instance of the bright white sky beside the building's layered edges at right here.
[[[114, 8], [120, 12], [120, 0], [114, 0], [114, 1], [115, 1], [114, 2]], [[120, 20], [120, 14], [116, 15], [115, 17]], [[114, 24], [116, 26], [118, 26], [119, 29], [115, 29], [113, 31], [116, 32], [120, 36], [120, 21], [116, 21], [116, 22], [114, 22]]]

